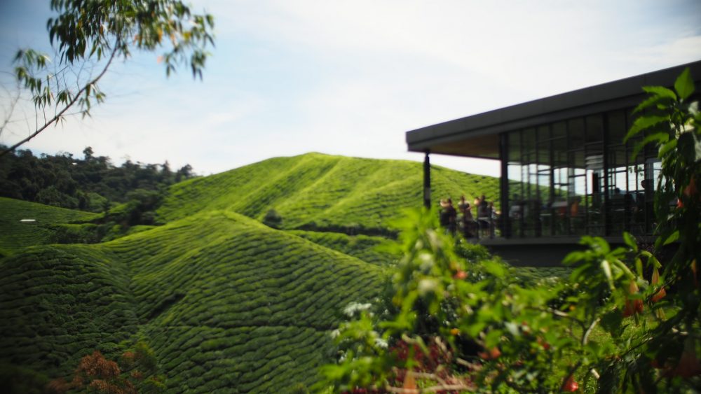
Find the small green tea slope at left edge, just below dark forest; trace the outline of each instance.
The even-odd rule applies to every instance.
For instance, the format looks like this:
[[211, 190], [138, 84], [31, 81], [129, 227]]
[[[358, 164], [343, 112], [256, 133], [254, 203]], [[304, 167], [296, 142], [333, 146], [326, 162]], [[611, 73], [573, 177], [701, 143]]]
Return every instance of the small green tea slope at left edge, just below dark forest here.
[[[51, 243], [55, 233], [51, 226], [86, 221], [97, 216], [97, 213], [0, 197], [0, 256], [27, 246]], [[22, 219], [35, 221], [22, 223]]]

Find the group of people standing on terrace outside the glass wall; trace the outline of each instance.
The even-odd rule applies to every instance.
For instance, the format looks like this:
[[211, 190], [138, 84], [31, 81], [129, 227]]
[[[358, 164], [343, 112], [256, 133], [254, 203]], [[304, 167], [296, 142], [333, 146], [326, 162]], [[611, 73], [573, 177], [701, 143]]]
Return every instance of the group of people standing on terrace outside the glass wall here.
[[440, 200], [440, 225], [447, 233], [455, 235], [458, 230], [465, 238], [479, 237], [479, 232], [488, 232], [489, 237], [494, 237], [494, 223], [497, 212], [494, 210], [494, 202], [489, 202], [486, 197], [477, 197], [470, 203], [465, 196], [460, 197], [458, 209], [453, 206], [451, 198]]

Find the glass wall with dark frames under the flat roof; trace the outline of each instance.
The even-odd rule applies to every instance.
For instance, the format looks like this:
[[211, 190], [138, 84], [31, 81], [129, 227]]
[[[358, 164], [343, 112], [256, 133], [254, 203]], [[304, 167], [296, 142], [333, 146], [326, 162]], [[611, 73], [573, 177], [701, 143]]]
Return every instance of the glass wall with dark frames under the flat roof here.
[[[654, 151], [632, 158], [629, 111], [612, 111], [507, 134], [511, 237], [649, 234]], [[647, 181], [646, 181], [647, 180]]]

